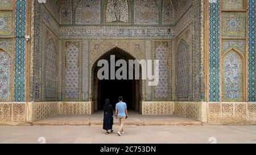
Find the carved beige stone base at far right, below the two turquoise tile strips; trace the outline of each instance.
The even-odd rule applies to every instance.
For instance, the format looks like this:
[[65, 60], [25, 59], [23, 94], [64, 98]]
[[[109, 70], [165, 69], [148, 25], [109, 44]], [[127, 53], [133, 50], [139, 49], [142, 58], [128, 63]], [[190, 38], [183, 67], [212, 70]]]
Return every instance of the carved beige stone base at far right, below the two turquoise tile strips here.
[[210, 124], [256, 124], [256, 103], [208, 103]]

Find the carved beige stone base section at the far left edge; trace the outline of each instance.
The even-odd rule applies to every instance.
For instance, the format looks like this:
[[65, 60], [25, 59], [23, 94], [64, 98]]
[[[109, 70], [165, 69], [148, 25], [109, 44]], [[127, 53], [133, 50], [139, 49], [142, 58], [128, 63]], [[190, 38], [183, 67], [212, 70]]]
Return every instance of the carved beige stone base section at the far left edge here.
[[0, 103], [0, 124], [26, 123], [26, 103]]

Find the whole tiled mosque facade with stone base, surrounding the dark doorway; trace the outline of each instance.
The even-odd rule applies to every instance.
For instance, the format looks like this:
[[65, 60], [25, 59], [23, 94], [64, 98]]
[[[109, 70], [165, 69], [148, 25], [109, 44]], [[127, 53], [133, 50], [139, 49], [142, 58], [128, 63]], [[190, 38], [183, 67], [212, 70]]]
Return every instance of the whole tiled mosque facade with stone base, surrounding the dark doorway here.
[[255, 0], [0, 0], [0, 124], [93, 114], [93, 66], [114, 48], [159, 60], [159, 85], [140, 85], [142, 115], [256, 123], [255, 7]]

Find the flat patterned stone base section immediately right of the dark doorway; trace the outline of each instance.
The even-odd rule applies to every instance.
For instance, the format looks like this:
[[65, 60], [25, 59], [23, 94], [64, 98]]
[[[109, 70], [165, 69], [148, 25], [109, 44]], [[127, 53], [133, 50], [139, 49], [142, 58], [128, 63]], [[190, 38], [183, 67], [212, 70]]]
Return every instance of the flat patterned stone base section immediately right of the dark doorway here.
[[142, 115], [174, 114], [174, 102], [142, 102]]

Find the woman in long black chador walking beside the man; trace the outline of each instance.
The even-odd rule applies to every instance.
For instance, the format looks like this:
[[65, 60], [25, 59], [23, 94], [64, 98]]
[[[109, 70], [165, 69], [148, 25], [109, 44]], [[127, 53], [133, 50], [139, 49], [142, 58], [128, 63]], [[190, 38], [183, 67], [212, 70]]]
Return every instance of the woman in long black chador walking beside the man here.
[[[113, 133], [113, 108], [110, 104], [110, 100], [105, 100], [104, 105], [104, 119], [103, 119], [103, 129], [106, 130], [106, 135], [109, 135], [109, 133]], [[109, 132], [110, 130], [110, 132]]]

